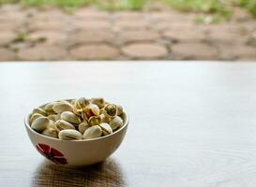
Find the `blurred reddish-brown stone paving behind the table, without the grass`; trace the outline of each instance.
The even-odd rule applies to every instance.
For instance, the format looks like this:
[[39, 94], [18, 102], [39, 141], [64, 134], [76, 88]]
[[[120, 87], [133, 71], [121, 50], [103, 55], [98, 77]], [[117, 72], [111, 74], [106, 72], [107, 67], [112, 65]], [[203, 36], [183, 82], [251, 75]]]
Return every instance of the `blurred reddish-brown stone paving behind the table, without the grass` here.
[[197, 24], [195, 13], [0, 7], [0, 61], [256, 60], [256, 20]]

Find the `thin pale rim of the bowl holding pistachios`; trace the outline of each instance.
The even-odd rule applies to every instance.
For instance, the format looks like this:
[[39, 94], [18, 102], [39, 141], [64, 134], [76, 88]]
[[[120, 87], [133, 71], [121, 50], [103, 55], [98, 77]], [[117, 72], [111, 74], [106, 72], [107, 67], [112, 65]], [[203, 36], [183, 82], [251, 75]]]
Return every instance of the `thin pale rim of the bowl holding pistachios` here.
[[[64, 99], [64, 100], [69, 100], [69, 99]], [[50, 102], [51, 103], [51, 102]], [[46, 103], [48, 104], [48, 103]], [[44, 105], [46, 105], [44, 104]], [[44, 106], [44, 105], [41, 105], [39, 106], [38, 108]], [[30, 119], [30, 116], [32, 115], [32, 113], [29, 113], [28, 115], [25, 116], [24, 118], [24, 124], [25, 124], [25, 127], [27, 129], [29, 129], [29, 131], [31, 131], [32, 133], [34, 133], [35, 135], [39, 136], [39, 137], [44, 137], [44, 138], [48, 138], [48, 139], [53, 139], [54, 141], [68, 141], [68, 142], [88, 142], [88, 141], [97, 141], [97, 140], [100, 140], [100, 139], [104, 139], [104, 138], [108, 138], [108, 137], [112, 137], [113, 135], [121, 132], [123, 129], [125, 129], [127, 126], [128, 126], [128, 122], [129, 122], [129, 117], [128, 117], [128, 113], [123, 110], [123, 113], [125, 113], [126, 115], [126, 121], [124, 123], [124, 125], [117, 129], [117, 131], [113, 132], [112, 134], [110, 135], [106, 135], [106, 136], [103, 136], [103, 137], [97, 137], [97, 138], [92, 138], [92, 139], [77, 139], [77, 140], [66, 140], [66, 139], [59, 139], [59, 138], [55, 138], [55, 137], [47, 137], [47, 136], [44, 136], [40, 133], [38, 133], [37, 131], [33, 130], [29, 124], [29, 119]]]

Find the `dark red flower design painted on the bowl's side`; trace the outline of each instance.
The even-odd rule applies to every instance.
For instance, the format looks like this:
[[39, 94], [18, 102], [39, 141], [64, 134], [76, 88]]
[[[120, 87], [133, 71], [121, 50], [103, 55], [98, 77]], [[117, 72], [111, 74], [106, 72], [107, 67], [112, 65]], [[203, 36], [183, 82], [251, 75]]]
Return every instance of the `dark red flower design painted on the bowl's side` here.
[[60, 151], [51, 148], [48, 145], [38, 143], [37, 145], [38, 151], [49, 160], [53, 161], [53, 163], [57, 165], [66, 165], [68, 164], [67, 159], [64, 157], [63, 153]]

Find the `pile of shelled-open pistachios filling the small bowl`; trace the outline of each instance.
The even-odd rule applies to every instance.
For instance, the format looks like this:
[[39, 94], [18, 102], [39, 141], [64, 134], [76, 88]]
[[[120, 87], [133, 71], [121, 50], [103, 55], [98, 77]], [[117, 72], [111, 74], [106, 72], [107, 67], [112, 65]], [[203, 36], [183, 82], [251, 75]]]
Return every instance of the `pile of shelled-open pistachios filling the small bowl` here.
[[92, 139], [123, 126], [123, 108], [101, 97], [59, 100], [35, 108], [30, 126], [38, 133], [66, 140]]

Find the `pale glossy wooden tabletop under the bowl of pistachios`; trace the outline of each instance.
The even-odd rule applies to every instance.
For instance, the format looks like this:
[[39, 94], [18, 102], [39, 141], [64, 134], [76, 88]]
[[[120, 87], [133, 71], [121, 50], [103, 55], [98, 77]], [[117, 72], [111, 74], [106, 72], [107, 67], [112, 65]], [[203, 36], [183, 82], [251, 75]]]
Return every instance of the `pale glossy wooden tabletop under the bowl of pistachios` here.
[[[68, 169], [32, 147], [23, 118], [42, 103], [104, 96], [130, 115], [104, 163]], [[256, 186], [256, 64], [0, 64], [0, 186]]]

